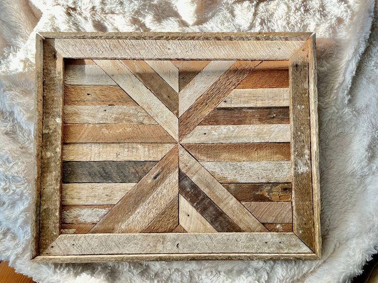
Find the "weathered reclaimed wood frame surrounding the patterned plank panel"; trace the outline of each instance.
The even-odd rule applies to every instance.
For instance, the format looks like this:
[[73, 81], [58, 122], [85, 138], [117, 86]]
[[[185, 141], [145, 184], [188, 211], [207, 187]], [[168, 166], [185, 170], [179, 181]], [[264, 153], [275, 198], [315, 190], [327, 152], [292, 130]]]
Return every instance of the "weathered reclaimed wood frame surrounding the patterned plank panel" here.
[[[289, 60], [293, 232], [60, 234], [64, 58]], [[315, 34], [44, 32], [35, 66], [34, 262], [321, 257]]]

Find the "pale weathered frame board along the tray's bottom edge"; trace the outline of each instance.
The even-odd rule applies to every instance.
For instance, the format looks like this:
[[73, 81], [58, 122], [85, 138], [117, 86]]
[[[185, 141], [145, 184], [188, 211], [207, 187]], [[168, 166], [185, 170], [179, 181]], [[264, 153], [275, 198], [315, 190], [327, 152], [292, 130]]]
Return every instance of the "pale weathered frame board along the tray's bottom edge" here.
[[[72, 245], [73, 244], [73, 245]], [[60, 235], [44, 254], [311, 253], [293, 233]]]

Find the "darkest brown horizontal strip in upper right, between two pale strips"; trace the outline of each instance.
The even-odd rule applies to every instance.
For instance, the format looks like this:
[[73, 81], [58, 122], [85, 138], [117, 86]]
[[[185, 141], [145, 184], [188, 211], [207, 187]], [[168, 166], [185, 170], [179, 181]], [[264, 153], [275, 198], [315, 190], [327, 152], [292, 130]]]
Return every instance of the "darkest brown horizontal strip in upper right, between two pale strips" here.
[[199, 124], [209, 125], [254, 125], [289, 124], [289, 107], [263, 108], [215, 108]]

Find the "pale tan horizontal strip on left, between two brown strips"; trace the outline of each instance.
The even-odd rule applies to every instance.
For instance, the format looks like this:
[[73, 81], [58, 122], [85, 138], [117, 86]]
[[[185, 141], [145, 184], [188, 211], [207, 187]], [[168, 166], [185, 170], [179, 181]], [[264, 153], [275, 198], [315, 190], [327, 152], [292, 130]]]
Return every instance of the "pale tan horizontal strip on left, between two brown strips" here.
[[64, 106], [64, 124], [158, 124], [140, 106]]

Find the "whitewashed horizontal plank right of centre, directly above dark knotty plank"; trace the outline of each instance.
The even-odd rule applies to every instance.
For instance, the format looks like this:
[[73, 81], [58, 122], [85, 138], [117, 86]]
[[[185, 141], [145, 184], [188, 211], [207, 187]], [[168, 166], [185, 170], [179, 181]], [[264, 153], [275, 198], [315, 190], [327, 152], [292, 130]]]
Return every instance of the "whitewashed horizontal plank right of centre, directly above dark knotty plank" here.
[[200, 161], [220, 183], [289, 183], [291, 161]]

